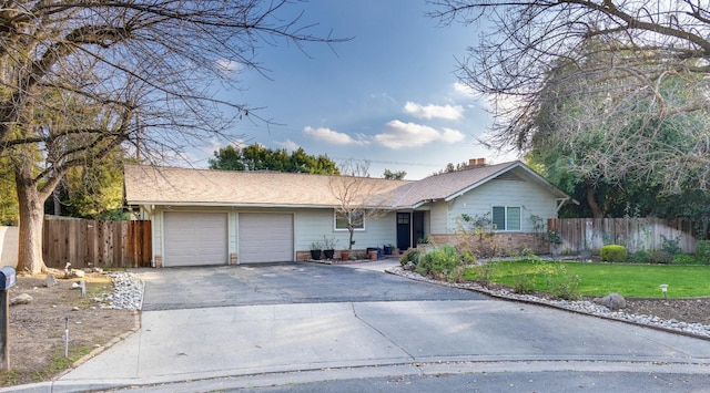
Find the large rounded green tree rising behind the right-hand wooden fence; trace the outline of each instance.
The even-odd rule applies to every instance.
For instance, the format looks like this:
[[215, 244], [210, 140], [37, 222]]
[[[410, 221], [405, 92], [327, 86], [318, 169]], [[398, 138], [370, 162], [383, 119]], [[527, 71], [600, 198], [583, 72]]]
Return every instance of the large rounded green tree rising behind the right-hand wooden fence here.
[[[657, 200], [665, 188], [668, 190], [667, 176], [673, 168], [649, 167], [669, 151], [688, 153], [697, 147], [694, 138], [710, 137], [710, 132], [702, 131], [703, 113], [684, 114], [682, 121], [656, 118], [648, 115], [652, 103], [646, 97], [610, 105], [608, 92], [616, 89], [618, 79], [600, 82], [577, 73], [582, 69], [594, 73], [606, 61], [604, 51], [600, 53], [585, 62], [561, 61], [552, 70], [539, 94], [539, 107], [520, 125], [535, 130], [528, 158], [581, 201], [580, 208], [567, 207], [567, 213], [576, 210], [595, 218], [658, 215]], [[657, 91], [686, 101], [697, 94], [679, 75], [667, 77]], [[645, 149], [635, 151], [637, 144]], [[674, 187], [679, 194], [684, 186]]]

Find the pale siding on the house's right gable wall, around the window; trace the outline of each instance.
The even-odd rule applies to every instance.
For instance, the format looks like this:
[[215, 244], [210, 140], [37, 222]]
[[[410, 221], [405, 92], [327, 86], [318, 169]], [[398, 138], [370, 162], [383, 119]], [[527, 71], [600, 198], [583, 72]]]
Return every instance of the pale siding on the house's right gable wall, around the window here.
[[555, 198], [544, 188], [529, 182], [490, 180], [452, 203], [448, 214], [449, 228], [456, 228], [455, 217], [462, 214], [481, 216], [490, 213], [493, 206], [520, 206], [523, 232], [534, 231], [530, 220], [532, 215], [545, 221], [548, 218], [557, 218]]

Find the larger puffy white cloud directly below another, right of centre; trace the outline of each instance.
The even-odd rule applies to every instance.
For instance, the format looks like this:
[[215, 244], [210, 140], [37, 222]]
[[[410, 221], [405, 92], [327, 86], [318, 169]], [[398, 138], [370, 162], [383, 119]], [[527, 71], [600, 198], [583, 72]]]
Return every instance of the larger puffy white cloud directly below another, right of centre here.
[[375, 135], [379, 144], [398, 149], [403, 147], [423, 146], [429, 143], [456, 143], [466, 136], [459, 131], [444, 128], [443, 132], [427, 125], [404, 123], [398, 120], [385, 124], [382, 134]]

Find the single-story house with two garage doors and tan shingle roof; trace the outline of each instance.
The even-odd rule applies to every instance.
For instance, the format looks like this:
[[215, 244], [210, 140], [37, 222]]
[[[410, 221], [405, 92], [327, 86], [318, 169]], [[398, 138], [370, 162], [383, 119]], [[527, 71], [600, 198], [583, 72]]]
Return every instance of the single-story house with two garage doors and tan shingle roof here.
[[540, 221], [569, 199], [519, 161], [471, 159], [420, 180], [126, 165], [124, 182], [126, 204], [152, 221], [155, 267], [303, 260], [324, 239], [347, 249], [336, 211], [347, 193], [378, 213], [358, 220], [353, 250], [404, 250], [426, 237], [455, 244], [458, 217], [468, 215], [490, 217], [504, 249], [545, 251]]

